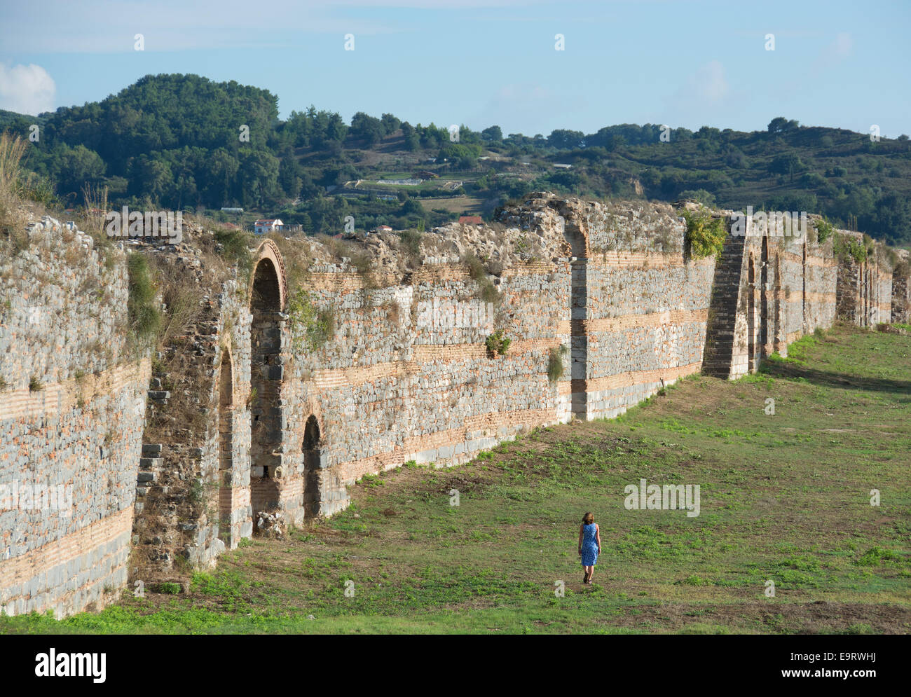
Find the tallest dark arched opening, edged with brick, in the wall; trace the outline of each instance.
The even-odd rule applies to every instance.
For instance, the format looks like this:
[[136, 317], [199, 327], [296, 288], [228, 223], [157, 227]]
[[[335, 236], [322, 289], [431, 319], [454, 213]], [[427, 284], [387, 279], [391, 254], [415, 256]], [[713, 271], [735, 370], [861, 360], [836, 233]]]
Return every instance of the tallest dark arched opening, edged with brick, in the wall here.
[[253, 272], [250, 310], [250, 498], [255, 526], [260, 511], [279, 506], [281, 476], [281, 286], [268, 257], [261, 258]]

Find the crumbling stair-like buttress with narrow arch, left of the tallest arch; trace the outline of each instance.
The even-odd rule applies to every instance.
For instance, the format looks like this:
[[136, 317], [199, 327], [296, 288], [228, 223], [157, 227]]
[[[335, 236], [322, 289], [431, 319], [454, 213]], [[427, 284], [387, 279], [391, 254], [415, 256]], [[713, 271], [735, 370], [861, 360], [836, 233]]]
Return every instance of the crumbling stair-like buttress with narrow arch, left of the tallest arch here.
[[[192, 234], [192, 230], [188, 231]], [[248, 289], [189, 245], [139, 245], [169, 279], [185, 326], [153, 360], [136, 481], [132, 581], [214, 564], [252, 534]]]

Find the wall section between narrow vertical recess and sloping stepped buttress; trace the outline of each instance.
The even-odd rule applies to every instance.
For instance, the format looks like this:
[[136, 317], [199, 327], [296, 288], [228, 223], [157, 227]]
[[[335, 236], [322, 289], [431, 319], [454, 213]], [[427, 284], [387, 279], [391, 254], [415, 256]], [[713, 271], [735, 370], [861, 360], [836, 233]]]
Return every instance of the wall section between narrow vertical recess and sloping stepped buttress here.
[[572, 411], [607, 418], [701, 370], [714, 260], [667, 205], [556, 200], [573, 254]]

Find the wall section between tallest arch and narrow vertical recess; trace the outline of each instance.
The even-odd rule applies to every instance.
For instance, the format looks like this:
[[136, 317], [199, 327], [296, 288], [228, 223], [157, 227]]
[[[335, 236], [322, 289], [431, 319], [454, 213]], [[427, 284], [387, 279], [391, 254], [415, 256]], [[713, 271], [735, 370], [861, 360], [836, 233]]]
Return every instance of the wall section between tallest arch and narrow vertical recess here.
[[[345, 507], [346, 487], [364, 474], [408, 460], [465, 462], [529, 427], [567, 421], [568, 370], [553, 383], [547, 374], [550, 349], [568, 343], [566, 270], [565, 261], [504, 270], [496, 308], [459, 263], [425, 263], [410, 284], [382, 289], [344, 269], [313, 273], [309, 288], [337, 329], [293, 353], [282, 386], [277, 484], [288, 518]], [[497, 329], [511, 345], [490, 356], [486, 338]], [[312, 466], [311, 419], [320, 439]]]

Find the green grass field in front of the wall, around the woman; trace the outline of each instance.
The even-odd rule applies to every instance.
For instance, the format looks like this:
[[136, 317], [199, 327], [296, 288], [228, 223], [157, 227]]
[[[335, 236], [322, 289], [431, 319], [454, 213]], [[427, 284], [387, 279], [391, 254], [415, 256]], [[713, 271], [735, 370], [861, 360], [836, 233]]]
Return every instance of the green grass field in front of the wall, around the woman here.
[[[342, 514], [245, 543], [188, 593], [126, 591], [97, 614], [0, 631], [906, 633], [911, 335], [838, 327], [790, 355], [466, 466], [365, 477]], [[699, 484], [700, 515], [627, 510], [640, 478]], [[576, 551], [588, 510], [593, 586]]]

